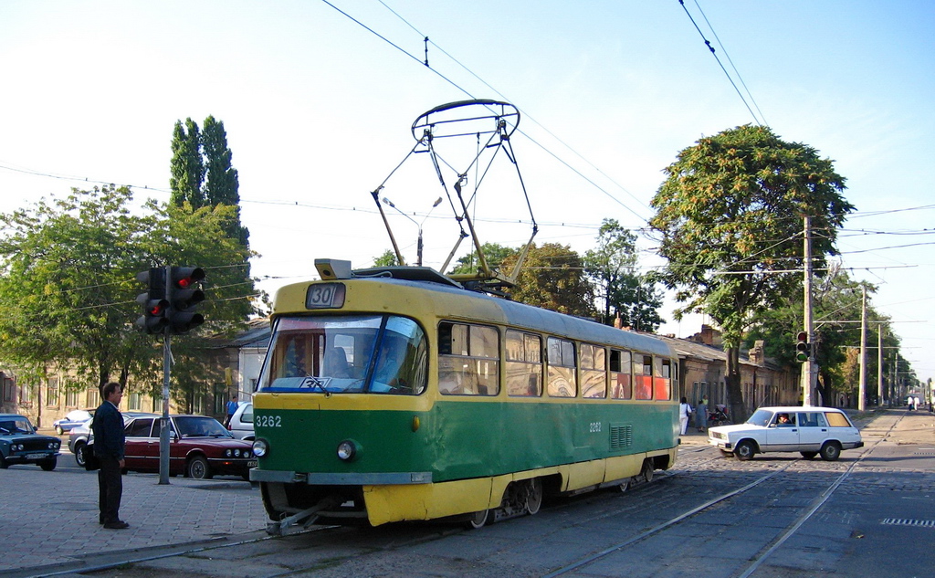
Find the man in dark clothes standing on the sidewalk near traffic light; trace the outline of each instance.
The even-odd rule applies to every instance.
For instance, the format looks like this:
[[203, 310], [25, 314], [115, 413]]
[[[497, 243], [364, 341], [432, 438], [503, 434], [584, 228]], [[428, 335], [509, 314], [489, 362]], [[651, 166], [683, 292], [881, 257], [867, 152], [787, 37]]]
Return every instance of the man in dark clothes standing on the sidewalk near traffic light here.
[[104, 402], [94, 412], [91, 428], [94, 431], [94, 455], [101, 462], [97, 470], [97, 516], [98, 524], [108, 529], [123, 529], [130, 525], [120, 519], [120, 500], [123, 495], [121, 470], [123, 461], [123, 416], [120, 400], [123, 388], [120, 383], [110, 382], [101, 391]]

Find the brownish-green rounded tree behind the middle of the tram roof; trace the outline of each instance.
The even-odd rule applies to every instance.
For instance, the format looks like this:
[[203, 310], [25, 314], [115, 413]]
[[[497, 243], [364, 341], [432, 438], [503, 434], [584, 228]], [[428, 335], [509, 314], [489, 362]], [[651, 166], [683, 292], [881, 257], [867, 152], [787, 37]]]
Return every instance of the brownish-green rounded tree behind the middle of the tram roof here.
[[[512, 270], [518, 253], [507, 256], [501, 267]], [[533, 244], [516, 280], [507, 291], [515, 301], [568, 315], [594, 315], [594, 288], [584, 275], [581, 255], [568, 245]]]

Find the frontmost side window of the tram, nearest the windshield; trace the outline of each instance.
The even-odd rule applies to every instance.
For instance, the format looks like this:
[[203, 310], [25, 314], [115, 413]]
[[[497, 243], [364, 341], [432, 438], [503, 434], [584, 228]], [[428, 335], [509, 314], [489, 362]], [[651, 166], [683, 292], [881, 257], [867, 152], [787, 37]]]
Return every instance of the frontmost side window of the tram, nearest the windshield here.
[[439, 391], [450, 396], [496, 396], [500, 389], [496, 327], [439, 325]]

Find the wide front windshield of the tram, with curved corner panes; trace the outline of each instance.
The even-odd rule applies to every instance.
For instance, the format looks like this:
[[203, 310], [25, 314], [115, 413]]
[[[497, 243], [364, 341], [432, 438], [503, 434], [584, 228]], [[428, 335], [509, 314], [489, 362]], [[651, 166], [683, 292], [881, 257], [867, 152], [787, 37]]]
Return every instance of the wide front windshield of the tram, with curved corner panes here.
[[418, 395], [427, 367], [424, 331], [406, 317], [281, 317], [257, 389]]

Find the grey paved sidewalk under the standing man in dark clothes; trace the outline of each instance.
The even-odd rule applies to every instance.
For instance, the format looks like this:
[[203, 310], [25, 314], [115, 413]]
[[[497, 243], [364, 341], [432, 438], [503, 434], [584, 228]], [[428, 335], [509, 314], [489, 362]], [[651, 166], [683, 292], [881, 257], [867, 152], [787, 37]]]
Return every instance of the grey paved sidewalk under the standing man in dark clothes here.
[[[0, 470], [0, 575], [7, 570], [74, 563], [82, 556], [210, 541], [266, 528], [258, 488], [237, 479], [123, 476], [121, 518], [130, 527], [97, 524], [97, 473], [74, 468], [67, 448], [59, 467]], [[52, 571], [52, 570], [50, 570]]]

